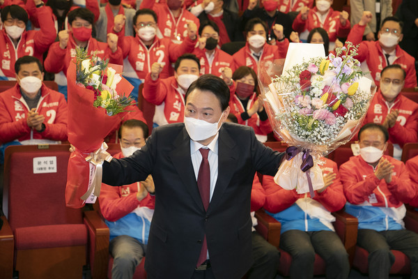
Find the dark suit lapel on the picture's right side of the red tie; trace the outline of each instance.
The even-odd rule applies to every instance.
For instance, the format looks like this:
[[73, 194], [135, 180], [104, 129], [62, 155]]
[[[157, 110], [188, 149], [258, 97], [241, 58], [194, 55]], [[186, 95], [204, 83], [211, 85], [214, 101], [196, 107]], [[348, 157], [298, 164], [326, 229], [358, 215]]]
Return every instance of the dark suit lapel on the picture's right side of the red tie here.
[[222, 198], [226, 187], [229, 185], [231, 178], [235, 172], [235, 164], [238, 159], [238, 154], [235, 149], [238, 146], [226, 133], [225, 128], [222, 127], [219, 130], [218, 139], [218, 177], [215, 185], [215, 191], [213, 192], [212, 199], [208, 211], [210, 211]]

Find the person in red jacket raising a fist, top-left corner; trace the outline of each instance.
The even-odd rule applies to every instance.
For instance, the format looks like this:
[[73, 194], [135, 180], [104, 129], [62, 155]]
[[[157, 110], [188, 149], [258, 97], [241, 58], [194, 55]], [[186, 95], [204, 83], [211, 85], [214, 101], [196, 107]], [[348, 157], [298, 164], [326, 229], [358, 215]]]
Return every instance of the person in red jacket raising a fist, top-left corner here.
[[24, 8], [12, 5], [1, 9], [0, 80], [15, 80], [14, 68], [18, 57], [30, 55], [42, 61], [44, 52], [54, 43], [56, 33], [51, 10], [40, 0], [36, 0], [36, 4], [39, 6], [36, 13], [42, 18], [38, 31], [26, 31], [29, 18]]

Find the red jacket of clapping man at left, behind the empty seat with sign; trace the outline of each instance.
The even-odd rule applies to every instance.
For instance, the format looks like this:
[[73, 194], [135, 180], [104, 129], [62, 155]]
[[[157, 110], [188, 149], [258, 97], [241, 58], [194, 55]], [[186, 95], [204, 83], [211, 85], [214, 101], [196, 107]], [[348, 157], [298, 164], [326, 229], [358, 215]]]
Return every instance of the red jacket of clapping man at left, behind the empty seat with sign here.
[[26, 119], [29, 107], [20, 93], [20, 86], [0, 93], [0, 142], [13, 140], [67, 140], [67, 103], [63, 94], [53, 91], [45, 84], [36, 112], [45, 116], [45, 130], [38, 133], [29, 128]]

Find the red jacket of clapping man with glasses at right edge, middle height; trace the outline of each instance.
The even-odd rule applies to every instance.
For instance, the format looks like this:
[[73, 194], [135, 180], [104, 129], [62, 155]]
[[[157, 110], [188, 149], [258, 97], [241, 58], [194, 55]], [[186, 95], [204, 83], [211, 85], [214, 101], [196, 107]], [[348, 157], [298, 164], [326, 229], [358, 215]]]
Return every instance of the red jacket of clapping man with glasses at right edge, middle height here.
[[396, 97], [392, 107], [389, 108], [379, 89], [371, 100], [363, 123], [382, 124], [391, 110], [398, 110], [399, 114], [395, 126], [387, 129], [389, 142], [399, 144], [401, 147], [407, 142], [418, 142], [418, 104], [403, 96], [402, 93]]

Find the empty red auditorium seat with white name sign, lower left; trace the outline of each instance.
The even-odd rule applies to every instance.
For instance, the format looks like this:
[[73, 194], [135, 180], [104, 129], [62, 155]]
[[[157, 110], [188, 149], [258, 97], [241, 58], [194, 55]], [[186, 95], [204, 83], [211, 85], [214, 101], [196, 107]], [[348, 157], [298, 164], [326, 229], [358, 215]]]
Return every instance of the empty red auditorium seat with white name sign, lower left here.
[[[14, 247], [0, 242], [0, 251], [14, 259], [7, 269], [18, 272], [20, 279], [82, 278], [88, 264], [92, 278], [105, 278], [107, 266], [100, 254], [107, 255], [109, 249], [109, 233], [102, 233], [106, 225], [93, 211], [83, 216], [82, 209], [65, 206], [69, 147], [6, 149], [3, 211]], [[88, 261], [92, 255], [95, 262]]]

